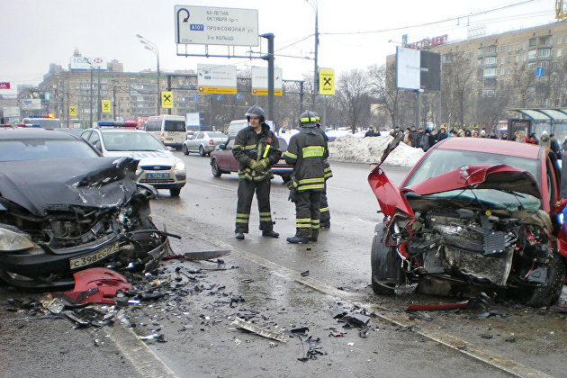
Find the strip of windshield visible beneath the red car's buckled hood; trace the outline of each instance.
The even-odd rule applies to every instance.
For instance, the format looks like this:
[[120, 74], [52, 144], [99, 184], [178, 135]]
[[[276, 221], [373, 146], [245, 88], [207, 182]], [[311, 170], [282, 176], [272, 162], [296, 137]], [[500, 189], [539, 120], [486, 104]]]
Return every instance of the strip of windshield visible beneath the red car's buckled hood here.
[[537, 211], [541, 202], [533, 195], [497, 189], [456, 189], [424, 195], [427, 199], [458, 200], [477, 204], [482, 208], [507, 211]]

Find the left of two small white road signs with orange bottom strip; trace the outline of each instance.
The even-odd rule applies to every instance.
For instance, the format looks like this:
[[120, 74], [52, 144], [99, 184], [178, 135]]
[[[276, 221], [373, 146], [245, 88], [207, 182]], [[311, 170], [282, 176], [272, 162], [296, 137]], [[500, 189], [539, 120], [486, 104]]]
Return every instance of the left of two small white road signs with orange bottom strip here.
[[236, 94], [236, 67], [198, 64], [197, 91], [202, 94]]

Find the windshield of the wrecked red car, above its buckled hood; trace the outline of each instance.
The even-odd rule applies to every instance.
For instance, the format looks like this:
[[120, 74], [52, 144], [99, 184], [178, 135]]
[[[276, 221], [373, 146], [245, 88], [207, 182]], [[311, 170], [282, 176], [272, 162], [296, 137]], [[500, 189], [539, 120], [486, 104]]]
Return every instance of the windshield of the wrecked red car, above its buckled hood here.
[[461, 166], [496, 166], [505, 164], [527, 171], [539, 182], [539, 161], [526, 157], [492, 154], [487, 152], [455, 149], [435, 149], [413, 171], [405, 186], [417, 184], [428, 178], [443, 175]]

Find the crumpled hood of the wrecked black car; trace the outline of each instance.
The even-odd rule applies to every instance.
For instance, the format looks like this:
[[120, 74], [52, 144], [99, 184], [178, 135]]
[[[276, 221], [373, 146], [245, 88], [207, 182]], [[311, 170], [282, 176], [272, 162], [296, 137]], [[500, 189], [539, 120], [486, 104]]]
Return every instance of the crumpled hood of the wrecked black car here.
[[46, 205], [110, 208], [136, 193], [137, 165], [130, 157], [3, 162], [0, 195], [37, 216]]

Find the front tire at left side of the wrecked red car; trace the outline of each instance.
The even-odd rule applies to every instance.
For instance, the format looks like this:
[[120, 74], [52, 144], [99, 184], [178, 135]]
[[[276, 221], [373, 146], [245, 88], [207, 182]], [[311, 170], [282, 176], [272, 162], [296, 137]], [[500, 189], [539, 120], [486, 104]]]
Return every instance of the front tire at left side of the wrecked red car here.
[[385, 232], [385, 224], [376, 225], [370, 254], [372, 291], [379, 295], [394, 295], [396, 284], [401, 283], [401, 270], [395, 248], [386, 247], [382, 242]]

